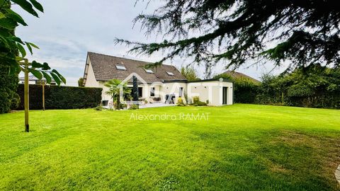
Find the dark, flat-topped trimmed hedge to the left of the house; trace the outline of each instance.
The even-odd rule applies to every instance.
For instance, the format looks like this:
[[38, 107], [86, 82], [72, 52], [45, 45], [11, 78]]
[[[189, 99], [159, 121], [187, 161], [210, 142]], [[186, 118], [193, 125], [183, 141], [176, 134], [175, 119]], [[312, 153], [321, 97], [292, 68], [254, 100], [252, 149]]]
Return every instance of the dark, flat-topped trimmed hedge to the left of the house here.
[[[102, 88], [45, 86], [45, 109], [95, 108], [101, 103]], [[23, 84], [18, 86], [23, 110]], [[42, 86], [30, 84], [30, 110], [42, 109]]]

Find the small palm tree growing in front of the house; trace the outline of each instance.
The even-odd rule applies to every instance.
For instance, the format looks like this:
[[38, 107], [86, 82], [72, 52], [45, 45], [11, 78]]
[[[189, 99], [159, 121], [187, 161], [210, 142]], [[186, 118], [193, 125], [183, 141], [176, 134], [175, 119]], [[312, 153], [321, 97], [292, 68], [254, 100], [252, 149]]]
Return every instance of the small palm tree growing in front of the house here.
[[110, 95], [113, 99], [113, 105], [115, 105], [115, 109], [122, 109], [123, 107], [120, 104], [120, 86], [123, 86], [123, 97], [129, 97], [131, 89], [128, 88], [127, 83], [122, 83], [122, 81], [118, 79], [112, 79], [110, 81], [107, 81], [104, 86], [109, 88], [108, 91], [106, 91], [106, 94]]

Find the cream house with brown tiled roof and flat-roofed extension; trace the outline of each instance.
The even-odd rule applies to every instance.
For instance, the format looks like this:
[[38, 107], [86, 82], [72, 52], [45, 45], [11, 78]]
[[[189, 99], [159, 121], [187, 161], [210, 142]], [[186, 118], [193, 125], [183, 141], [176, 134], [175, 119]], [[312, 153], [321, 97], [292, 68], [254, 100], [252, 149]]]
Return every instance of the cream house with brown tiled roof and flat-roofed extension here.
[[[106, 94], [106, 81], [120, 79], [132, 87], [132, 74], [138, 76], [138, 91], [140, 100], [147, 103], [169, 103], [178, 98], [190, 102], [194, 96], [208, 105], [232, 105], [233, 82], [227, 79], [208, 79], [188, 82], [175, 66], [162, 64], [154, 69], [145, 69], [152, 64], [124, 57], [113, 57], [105, 54], [88, 52], [84, 69], [84, 86], [103, 88], [103, 103], [112, 101]], [[166, 99], [166, 98], [171, 99]]]

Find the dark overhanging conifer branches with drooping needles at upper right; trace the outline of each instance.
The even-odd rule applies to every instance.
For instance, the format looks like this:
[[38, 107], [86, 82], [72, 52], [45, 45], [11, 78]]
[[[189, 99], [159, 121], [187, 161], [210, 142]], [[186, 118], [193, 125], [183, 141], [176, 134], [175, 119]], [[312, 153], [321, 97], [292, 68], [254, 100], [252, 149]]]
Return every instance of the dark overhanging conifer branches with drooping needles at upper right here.
[[[154, 66], [177, 55], [194, 57], [206, 69], [219, 61], [237, 68], [247, 60], [269, 59], [288, 69], [314, 62], [340, 63], [340, 8], [337, 0], [167, 0], [152, 14], [140, 14], [147, 35], [163, 42], [131, 42], [130, 52], [168, 52]], [[269, 48], [272, 47], [272, 48]]]

